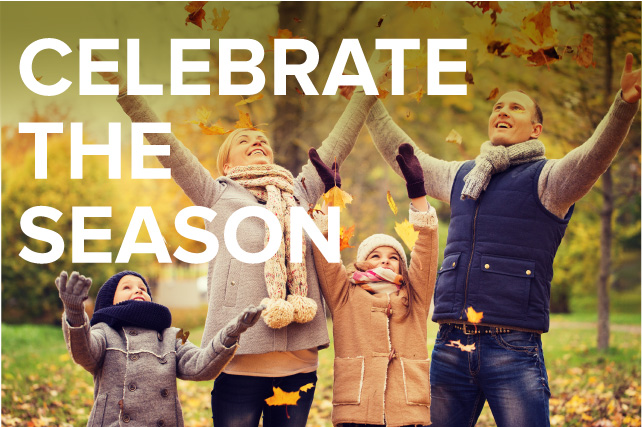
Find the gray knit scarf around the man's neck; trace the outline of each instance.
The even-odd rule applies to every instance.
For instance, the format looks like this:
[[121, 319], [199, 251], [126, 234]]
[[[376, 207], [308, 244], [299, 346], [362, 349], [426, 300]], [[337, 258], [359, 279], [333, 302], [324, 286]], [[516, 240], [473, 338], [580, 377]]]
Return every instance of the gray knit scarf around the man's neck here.
[[544, 144], [538, 139], [520, 142], [519, 144], [493, 145], [490, 141], [482, 144], [479, 156], [475, 159], [475, 167], [464, 177], [464, 188], [461, 199], [477, 200], [482, 191], [486, 190], [491, 177], [503, 172], [510, 166], [545, 159]]

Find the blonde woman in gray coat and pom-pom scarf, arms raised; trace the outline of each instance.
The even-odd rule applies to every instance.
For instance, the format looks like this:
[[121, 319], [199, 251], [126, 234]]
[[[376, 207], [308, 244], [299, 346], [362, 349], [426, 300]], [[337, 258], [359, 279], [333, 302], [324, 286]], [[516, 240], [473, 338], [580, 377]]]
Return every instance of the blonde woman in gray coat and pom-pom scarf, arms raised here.
[[[384, 70], [385, 71], [385, 70]], [[126, 95], [120, 75], [101, 73], [103, 78], [120, 86], [118, 102], [132, 122], [160, 120], [140, 96]], [[382, 76], [382, 79], [384, 77]], [[364, 94], [352, 97], [330, 135], [318, 150], [326, 164], [340, 167], [361, 130], [370, 107], [376, 101], [363, 100]], [[372, 97], [374, 98], [374, 97]], [[274, 164], [268, 137], [256, 129], [231, 133], [218, 154], [219, 178], [213, 178], [198, 159], [173, 134], [147, 134], [154, 145], [168, 145], [169, 156], [158, 156], [172, 178], [197, 206], [216, 212], [205, 229], [224, 239], [230, 216], [244, 207], [263, 207], [281, 224], [283, 236], [277, 253], [264, 263], [251, 264], [232, 256], [225, 244], [209, 261], [208, 313], [203, 342], [247, 304], [265, 304], [255, 327], [244, 334], [232, 362], [217, 378], [212, 391], [212, 413], [216, 427], [259, 424], [263, 414], [265, 427], [305, 426], [316, 384], [318, 350], [328, 347], [329, 337], [319, 283], [309, 238], [304, 237], [303, 262], [289, 263], [289, 208], [313, 206], [324, 192], [324, 184], [308, 162], [295, 178], [285, 168]], [[245, 219], [236, 238], [248, 253], [262, 251], [269, 239], [265, 222], [256, 217]], [[266, 398], [273, 387], [286, 392], [300, 391], [296, 406], [268, 406]]]

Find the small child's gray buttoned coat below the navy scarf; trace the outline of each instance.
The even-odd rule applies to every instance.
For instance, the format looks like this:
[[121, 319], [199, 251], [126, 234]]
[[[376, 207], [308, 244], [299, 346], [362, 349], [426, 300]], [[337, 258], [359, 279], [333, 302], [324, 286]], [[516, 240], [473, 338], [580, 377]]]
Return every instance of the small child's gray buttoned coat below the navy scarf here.
[[163, 332], [106, 323], [70, 326], [63, 332], [73, 360], [94, 376], [93, 426], [183, 426], [176, 378], [204, 381], [218, 376], [238, 345], [226, 348], [220, 332], [205, 348], [176, 338], [177, 328]]

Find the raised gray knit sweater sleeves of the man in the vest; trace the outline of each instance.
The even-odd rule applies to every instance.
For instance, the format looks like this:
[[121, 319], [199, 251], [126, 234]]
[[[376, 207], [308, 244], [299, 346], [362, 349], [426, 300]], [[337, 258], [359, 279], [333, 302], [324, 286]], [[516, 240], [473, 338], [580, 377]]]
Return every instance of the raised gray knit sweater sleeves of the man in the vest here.
[[[589, 192], [624, 142], [639, 104], [629, 104], [618, 92], [609, 112], [584, 144], [561, 159], [546, 162], [538, 182], [538, 194], [546, 209], [564, 218], [573, 203]], [[381, 101], [372, 107], [366, 125], [377, 150], [399, 175], [401, 171], [395, 160], [399, 145], [412, 144], [424, 170], [426, 192], [431, 197], [450, 203], [455, 176], [464, 162], [436, 159], [421, 151], [394, 123]]]

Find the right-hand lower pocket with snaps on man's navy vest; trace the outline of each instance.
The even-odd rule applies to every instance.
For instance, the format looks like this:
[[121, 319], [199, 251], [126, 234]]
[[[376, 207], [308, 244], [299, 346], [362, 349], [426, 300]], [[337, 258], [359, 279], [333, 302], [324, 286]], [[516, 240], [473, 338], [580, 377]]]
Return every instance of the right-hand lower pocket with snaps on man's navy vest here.
[[474, 308], [494, 317], [525, 318], [535, 261], [482, 255], [481, 271], [480, 304]]

